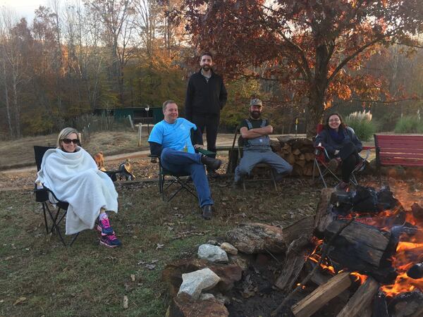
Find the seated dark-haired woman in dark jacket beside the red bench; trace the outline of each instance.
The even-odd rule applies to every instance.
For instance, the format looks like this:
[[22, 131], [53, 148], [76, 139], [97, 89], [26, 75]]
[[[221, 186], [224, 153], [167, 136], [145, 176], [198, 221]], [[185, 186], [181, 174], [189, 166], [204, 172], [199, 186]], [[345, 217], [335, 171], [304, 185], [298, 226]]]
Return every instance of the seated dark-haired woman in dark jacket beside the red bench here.
[[331, 168], [341, 163], [342, 182], [338, 188], [348, 187], [351, 172], [362, 160], [358, 153], [363, 149], [363, 145], [354, 130], [343, 123], [340, 114], [332, 113], [326, 119], [324, 130], [317, 135], [314, 145], [321, 145], [326, 149], [331, 159]]

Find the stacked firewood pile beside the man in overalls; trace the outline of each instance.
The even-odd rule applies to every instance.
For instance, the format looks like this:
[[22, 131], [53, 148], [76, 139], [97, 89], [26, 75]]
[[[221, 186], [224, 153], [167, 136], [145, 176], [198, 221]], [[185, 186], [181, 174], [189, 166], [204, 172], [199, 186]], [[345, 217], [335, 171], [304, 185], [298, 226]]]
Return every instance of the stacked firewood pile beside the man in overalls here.
[[[272, 141], [271, 147], [293, 166], [293, 175], [313, 175], [314, 147], [311, 139], [283, 136], [278, 137], [278, 141]], [[314, 173], [316, 175], [317, 170]]]

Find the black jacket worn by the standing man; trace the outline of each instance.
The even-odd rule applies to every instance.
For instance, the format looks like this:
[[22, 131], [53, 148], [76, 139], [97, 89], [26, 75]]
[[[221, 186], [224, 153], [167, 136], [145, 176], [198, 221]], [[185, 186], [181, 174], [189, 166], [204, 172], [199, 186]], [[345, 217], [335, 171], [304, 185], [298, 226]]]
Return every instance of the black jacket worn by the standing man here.
[[185, 118], [192, 120], [194, 114], [216, 114], [226, 104], [228, 93], [221, 76], [214, 73], [209, 82], [201, 74], [193, 74], [188, 81], [187, 95], [185, 97]]

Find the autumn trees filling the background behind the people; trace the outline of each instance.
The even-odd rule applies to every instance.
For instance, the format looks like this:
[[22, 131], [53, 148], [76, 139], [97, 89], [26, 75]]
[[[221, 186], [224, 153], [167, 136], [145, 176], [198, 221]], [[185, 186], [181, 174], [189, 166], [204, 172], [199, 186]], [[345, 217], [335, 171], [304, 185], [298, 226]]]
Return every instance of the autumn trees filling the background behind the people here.
[[422, 108], [418, 10], [394, 15], [394, 0], [382, 1], [386, 10], [361, 8], [366, 1], [277, 2], [276, 10], [260, 0], [54, 0], [32, 21], [3, 9], [0, 138], [57, 132], [95, 108], [160, 106], [169, 98], [182, 106], [203, 49], [216, 54], [226, 79], [223, 128], [245, 116], [252, 96], [264, 99], [284, 133], [295, 118], [305, 132], [329, 108], [371, 109], [382, 130]]

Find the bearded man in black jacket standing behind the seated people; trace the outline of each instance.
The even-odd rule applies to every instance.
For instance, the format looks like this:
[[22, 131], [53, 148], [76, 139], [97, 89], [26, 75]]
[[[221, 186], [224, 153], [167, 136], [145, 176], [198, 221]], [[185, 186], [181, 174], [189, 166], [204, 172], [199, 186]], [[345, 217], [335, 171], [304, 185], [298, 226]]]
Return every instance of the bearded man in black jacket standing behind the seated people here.
[[[221, 76], [214, 73], [213, 56], [203, 53], [200, 71], [190, 77], [185, 98], [185, 117], [204, 133], [207, 132], [207, 149], [216, 153], [217, 128], [220, 111], [228, 99]], [[214, 171], [208, 170], [209, 173]]]

